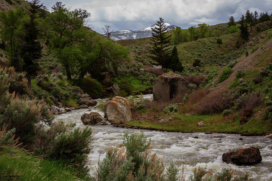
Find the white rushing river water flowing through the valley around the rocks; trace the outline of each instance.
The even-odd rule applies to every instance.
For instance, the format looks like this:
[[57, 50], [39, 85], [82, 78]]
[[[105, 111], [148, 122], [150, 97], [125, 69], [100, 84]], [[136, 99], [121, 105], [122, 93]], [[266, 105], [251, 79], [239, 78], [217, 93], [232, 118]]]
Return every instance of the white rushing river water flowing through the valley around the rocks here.
[[[145, 98], [152, 99], [152, 95], [145, 95]], [[105, 101], [97, 99], [97, 101]], [[88, 112], [90, 108], [79, 109], [62, 115], [55, 115], [56, 119], [66, 123], [76, 122], [77, 127], [84, 127], [80, 121], [81, 115]], [[99, 112], [96, 108], [91, 108], [92, 112]], [[99, 112], [102, 116], [102, 112]], [[110, 146], [120, 147], [123, 142], [123, 132], [128, 130], [129, 133], [144, 133], [151, 142], [154, 143], [152, 152], [162, 158], [165, 165], [172, 161], [176, 166], [185, 166], [187, 178], [193, 173], [195, 167], [207, 167], [214, 172], [221, 171], [222, 168], [228, 167], [235, 169], [238, 174], [248, 171], [250, 177], [258, 181], [272, 181], [272, 139], [261, 136], [242, 137], [238, 140], [239, 134], [204, 134], [204, 133], [178, 133], [162, 132], [149, 130], [134, 130], [115, 128], [111, 125], [92, 126], [93, 143], [92, 152], [89, 154], [89, 166], [91, 174], [94, 174], [97, 163], [103, 160]], [[193, 138], [198, 136], [199, 139]], [[222, 138], [215, 138], [223, 136]], [[222, 154], [232, 150], [238, 150], [247, 147], [258, 147], [261, 152], [262, 162], [252, 166], [236, 166], [222, 162]]]

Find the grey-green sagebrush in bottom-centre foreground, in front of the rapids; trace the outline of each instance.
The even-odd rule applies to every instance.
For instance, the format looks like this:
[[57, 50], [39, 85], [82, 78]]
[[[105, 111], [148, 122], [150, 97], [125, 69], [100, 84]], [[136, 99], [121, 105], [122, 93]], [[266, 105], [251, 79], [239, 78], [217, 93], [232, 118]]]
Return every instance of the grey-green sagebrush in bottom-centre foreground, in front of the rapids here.
[[110, 148], [102, 163], [98, 166], [98, 180], [149, 180], [166, 181], [176, 178], [177, 169], [173, 164], [167, 168], [164, 178], [164, 166], [156, 154], [150, 155], [150, 140], [144, 134], [124, 133], [123, 144], [119, 151]]

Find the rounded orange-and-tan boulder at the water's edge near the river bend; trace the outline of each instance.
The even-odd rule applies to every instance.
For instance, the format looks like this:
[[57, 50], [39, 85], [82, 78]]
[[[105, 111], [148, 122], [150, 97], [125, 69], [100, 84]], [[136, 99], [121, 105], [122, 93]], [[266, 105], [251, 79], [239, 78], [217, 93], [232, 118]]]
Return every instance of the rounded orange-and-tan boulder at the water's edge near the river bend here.
[[110, 122], [126, 122], [131, 120], [135, 108], [128, 99], [120, 96], [115, 96], [105, 105], [106, 117]]

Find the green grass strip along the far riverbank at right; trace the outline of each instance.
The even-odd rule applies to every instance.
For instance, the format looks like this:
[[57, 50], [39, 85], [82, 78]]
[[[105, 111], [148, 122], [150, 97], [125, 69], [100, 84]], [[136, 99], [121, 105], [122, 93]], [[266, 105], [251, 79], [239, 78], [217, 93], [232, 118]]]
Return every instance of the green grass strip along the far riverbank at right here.
[[[223, 117], [220, 114], [215, 115], [176, 115], [173, 116], [174, 121], [169, 121], [167, 123], [154, 123], [150, 121], [143, 121], [139, 123], [134, 121], [129, 123], [130, 126], [141, 127], [144, 129], [154, 129], [161, 131], [176, 131], [182, 133], [190, 132], [217, 132], [217, 133], [242, 133], [242, 132], [260, 132], [268, 133], [271, 131], [269, 126], [266, 126], [267, 121], [262, 119], [251, 118], [250, 121], [241, 125], [239, 118], [232, 121], [229, 117]], [[198, 127], [197, 123], [204, 121], [204, 127]]]

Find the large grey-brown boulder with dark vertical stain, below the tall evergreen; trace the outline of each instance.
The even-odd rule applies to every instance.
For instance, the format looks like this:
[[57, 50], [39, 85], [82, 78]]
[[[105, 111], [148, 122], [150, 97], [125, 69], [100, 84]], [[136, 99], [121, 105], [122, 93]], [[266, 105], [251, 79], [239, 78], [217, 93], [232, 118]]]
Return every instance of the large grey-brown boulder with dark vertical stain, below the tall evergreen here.
[[189, 90], [189, 82], [181, 75], [168, 72], [159, 76], [153, 87], [153, 100], [169, 101], [177, 94], [184, 94]]

